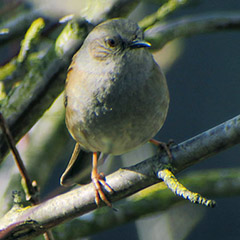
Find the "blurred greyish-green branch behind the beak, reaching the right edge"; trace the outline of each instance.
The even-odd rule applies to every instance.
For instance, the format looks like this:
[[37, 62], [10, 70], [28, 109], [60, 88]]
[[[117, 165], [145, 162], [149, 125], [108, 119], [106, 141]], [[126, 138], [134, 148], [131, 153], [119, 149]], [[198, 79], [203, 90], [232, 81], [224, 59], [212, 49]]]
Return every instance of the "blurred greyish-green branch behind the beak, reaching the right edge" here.
[[145, 31], [145, 37], [151, 42], [153, 49], [160, 49], [166, 43], [179, 37], [239, 29], [239, 12], [220, 12], [184, 17], [171, 22], [156, 24]]

